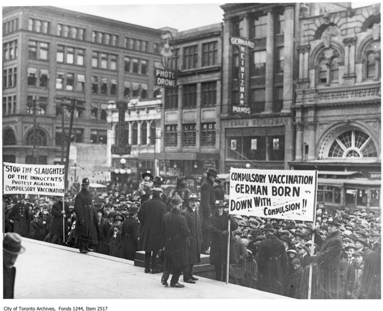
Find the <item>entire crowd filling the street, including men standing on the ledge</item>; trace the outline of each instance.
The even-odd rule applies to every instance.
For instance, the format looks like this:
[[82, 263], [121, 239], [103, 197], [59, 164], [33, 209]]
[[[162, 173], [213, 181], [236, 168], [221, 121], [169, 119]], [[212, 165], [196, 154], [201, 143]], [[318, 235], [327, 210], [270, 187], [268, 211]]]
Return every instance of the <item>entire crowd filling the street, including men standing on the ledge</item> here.
[[181, 275], [197, 282], [193, 268], [204, 254], [219, 281], [228, 271], [230, 283], [297, 299], [309, 292], [310, 299], [380, 299], [379, 212], [319, 204], [314, 226], [232, 215], [217, 170], [205, 173], [199, 194], [179, 177], [166, 195], [163, 179], [147, 171], [129, 194], [92, 197], [84, 178], [79, 193], [64, 200], [8, 196], [5, 232], [128, 260], [145, 251], [145, 273], [163, 267], [161, 283], [168, 286], [172, 274], [173, 288], [184, 287]]

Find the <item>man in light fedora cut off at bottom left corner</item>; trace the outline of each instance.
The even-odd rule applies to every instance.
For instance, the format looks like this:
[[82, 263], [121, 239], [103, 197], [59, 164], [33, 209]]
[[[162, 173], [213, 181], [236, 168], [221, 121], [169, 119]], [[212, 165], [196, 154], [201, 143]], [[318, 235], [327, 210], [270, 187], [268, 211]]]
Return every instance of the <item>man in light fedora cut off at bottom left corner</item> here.
[[13, 299], [15, 288], [17, 256], [25, 252], [21, 246], [21, 236], [14, 232], [8, 232], [3, 240], [3, 299]]

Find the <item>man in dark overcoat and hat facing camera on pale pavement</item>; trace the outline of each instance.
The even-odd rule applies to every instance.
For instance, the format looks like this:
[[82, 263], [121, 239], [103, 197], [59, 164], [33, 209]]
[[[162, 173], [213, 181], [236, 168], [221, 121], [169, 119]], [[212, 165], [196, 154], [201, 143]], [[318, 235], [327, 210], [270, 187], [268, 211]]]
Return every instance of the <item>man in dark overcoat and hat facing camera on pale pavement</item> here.
[[189, 207], [181, 212], [182, 216], [186, 218], [187, 227], [190, 230], [190, 243], [188, 246], [189, 269], [183, 272], [183, 281], [186, 283], [195, 283], [198, 280], [198, 278], [193, 276], [193, 267], [194, 264], [201, 262], [202, 229], [200, 212], [197, 209], [197, 205], [197, 194], [191, 194], [189, 197]]

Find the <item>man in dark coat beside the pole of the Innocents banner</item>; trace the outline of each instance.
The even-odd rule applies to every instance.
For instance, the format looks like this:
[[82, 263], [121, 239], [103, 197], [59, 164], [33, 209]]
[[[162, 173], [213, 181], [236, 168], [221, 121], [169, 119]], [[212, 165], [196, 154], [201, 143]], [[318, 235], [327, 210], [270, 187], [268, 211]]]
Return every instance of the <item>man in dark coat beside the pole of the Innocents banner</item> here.
[[[62, 205], [64, 204], [64, 209], [62, 209]], [[51, 243], [54, 244], [63, 244], [62, 238], [62, 222], [64, 220], [64, 230], [65, 236], [68, 235], [68, 219], [70, 218], [69, 204], [67, 202], [63, 202], [62, 197], [57, 197], [57, 202], [53, 204], [51, 210], [53, 220], [51, 224], [50, 234], [52, 236]]]

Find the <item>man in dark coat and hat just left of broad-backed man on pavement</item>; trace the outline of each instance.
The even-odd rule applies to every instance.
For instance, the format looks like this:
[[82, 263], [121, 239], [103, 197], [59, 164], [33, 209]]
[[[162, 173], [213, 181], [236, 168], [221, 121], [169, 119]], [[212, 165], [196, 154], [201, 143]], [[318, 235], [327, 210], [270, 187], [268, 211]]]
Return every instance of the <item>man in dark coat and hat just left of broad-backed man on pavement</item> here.
[[132, 206], [128, 211], [128, 217], [124, 220], [121, 227], [121, 238], [123, 240], [123, 258], [134, 260], [138, 246], [138, 209]]

